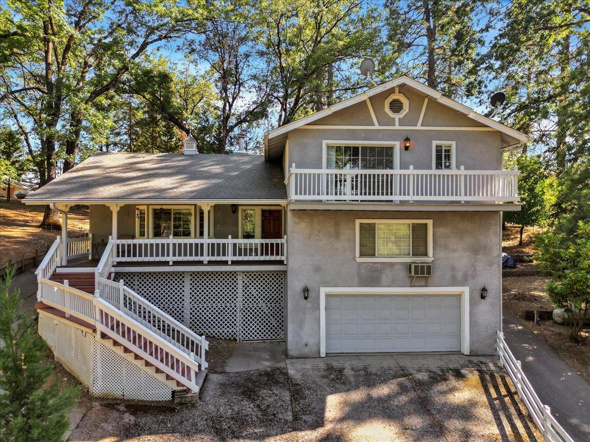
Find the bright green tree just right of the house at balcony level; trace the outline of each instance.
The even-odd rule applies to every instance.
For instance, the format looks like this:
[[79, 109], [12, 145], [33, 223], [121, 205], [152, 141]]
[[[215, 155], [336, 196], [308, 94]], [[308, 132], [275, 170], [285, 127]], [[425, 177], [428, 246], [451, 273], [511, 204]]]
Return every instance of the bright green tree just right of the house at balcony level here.
[[553, 179], [537, 156], [520, 155], [514, 159], [519, 170], [518, 193], [522, 209], [504, 212], [503, 220], [519, 226], [545, 226], [553, 203]]

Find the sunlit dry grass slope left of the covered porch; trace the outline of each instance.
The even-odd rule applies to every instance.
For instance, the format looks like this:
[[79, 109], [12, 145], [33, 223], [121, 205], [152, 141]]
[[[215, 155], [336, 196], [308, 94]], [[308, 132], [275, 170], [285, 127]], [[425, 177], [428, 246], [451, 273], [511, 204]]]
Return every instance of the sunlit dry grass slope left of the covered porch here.
[[[0, 263], [12, 262], [43, 250], [60, 235], [59, 230], [39, 227], [45, 206], [25, 206], [20, 201], [0, 202]], [[68, 214], [68, 236], [87, 232], [89, 210], [71, 209]]]

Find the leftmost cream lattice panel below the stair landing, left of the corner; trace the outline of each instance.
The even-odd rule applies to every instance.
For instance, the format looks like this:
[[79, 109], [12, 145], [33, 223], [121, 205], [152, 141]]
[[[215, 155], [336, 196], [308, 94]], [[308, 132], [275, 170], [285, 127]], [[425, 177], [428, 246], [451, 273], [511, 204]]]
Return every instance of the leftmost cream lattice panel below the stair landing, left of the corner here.
[[39, 334], [50, 345], [55, 360], [73, 374], [84, 387], [91, 390], [94, 334], [63, 322], [55, 322], [51, 316], [40, 313]]

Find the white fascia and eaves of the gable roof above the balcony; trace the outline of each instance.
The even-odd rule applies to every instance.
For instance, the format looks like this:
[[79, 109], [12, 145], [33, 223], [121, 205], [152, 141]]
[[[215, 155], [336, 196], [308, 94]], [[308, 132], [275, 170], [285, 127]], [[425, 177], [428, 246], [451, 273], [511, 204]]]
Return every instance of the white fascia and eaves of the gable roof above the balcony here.
[[[355, 95], [354, 97], [350, 97], [346, 100], [340, 101], [339, 103], [333, 104], [330, 107], [317, 111], [307, 117], [300, 118], [299, 120], [293, 121], [292, 123], [285, 124], [284, 126], [280, 126], [273, 130], [267, 131], [264, 134], [264, 144], [266, 148], [264, 149], [264, 154], [266, 156], [266, 159], [268, 160], [271, 156], [273, 156], [273, 154], [276, 154], [274, 151], [276, 151], [277, 149], [282, 151], [282, 147], [284, 147], [286, 136], [289, 131], [301, 126], [305, 126], [306, 124], [313, 123], [313, 121], [326, 117], [340, 109], [349, 107], [353, 104], [360, 103], [361, 101], [365, 101], [367, 98], [372, 97], [373, 95], [382, 93], [386, 90], [389, 90], [402, 84], [414, 88], [415, 90], [419, 91], [419, 93], [422, 93], [427, 97], [434, 98], [434, 100], [436, 100], [438, 103], [450, 107], [451, 109], [454, 109], [466, 115], [467, 117], [472, 118], [478, 123], [484, 124], [484, 126], [488, 126], [500, 131], [507, 138], [506, 143], [504, 144], [509, 145], [517, 143], [526, 143], [529, 140], [529, 137], [527, 137], [522, 132], [513, 129], [512, 127], [506, 126], [506, 124], [499, 123], [496, 120], [492, 120], [491, 118], [478, 114], [472, 108], [464, 104], [458, 103], [458, 101], [451, 100], [451, 98], [445, 97], [439, 91], [431, 87], [428, 87], [427, 85], [422, 84], [419, 81], [409, 78], [407, 75], [401, 75], [401, 77], [394, 78], [394, 80], [390, 80], [386, 83], [375, 86], [362, 94]], [[383, 127], [383, 129], [387, 128], [388, 127]]]

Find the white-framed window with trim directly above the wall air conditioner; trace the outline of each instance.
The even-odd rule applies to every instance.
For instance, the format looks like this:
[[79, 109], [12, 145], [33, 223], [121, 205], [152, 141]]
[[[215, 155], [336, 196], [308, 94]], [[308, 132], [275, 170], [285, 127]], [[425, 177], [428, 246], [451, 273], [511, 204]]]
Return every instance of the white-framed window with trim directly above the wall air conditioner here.
[[432, 220], [356, 220], [356, 259], [432, 260]]

